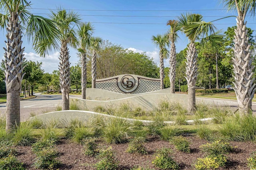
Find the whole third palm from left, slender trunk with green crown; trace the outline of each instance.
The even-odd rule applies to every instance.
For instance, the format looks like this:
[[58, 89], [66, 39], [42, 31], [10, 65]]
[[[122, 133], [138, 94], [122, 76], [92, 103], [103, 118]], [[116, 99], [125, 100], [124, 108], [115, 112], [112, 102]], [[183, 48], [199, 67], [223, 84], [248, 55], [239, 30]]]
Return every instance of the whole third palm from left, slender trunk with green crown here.
[[90, 22], [81, 23], [78, 27], [78, 37], [80, 39], [80, 48], [78, 51], [81, 53], [81, 69], [82, 69], [82, 99], [86, 99], [86, 51], [90, 46], [90, 37], [93, 33], [93, 26]]

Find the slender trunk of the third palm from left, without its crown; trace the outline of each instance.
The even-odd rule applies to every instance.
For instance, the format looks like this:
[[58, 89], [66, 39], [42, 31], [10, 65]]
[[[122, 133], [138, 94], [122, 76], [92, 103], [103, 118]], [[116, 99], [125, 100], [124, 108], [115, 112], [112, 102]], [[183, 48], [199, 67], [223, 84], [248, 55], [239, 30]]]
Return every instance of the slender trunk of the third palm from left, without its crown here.
[[87, 73], [86, 73], [86, 54], [82, 53], [82, 57], [81, 57], [81, 64], [82, 64], [82, 84], [81, 84], [81, 88], [82, 88], [82, 99], [86, 99], [86, 77], [87, 77]]

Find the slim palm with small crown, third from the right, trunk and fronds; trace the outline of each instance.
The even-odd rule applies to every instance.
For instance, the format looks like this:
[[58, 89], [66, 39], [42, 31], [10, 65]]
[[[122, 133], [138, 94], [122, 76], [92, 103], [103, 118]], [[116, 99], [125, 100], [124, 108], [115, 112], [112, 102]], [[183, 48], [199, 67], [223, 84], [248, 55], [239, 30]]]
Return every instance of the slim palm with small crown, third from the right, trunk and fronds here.
[[167, 25], [170, 25], [168, 31], [170, 41], [170, 68], [169, 68], [169, 79], [170, 79], [170, 90], [171, 93], [175, 93], [175, 73], [176, 73], [176, 46], [175, 42], [178, 39], [177, 32], [180, 30], [180, 25], [177, 20], [169, 20]]

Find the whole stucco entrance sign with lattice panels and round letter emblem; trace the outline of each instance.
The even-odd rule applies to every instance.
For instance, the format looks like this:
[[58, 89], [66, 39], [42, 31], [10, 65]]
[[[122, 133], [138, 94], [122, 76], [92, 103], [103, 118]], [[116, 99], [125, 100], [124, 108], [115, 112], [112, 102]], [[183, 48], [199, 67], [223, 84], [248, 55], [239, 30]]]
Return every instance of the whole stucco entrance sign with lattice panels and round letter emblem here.
[[97, 79], [96, 88], [123, 94], [138, 94], [160, 90], [160, 79], [122, 74], [109, 78]]

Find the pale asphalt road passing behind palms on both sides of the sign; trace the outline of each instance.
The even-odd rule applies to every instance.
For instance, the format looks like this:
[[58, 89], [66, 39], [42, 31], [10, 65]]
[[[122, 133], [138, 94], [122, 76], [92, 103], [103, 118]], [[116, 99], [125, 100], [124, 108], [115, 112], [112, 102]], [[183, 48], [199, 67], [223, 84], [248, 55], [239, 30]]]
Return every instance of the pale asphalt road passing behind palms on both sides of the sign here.
[[[56, 111], [61, 106], [61, 95], [41, 95], [36, 93], [36, 98], [20, 101], [20, 119], [26, 121], [31, 115], [40, 115], [43, 113]], [[70, 97], [81, 98], [80, 95], [70, 95]], [[206, 104], [215, 104], [218, 106], [229, 106], [232, 110], [238, 109], [236, 100], [212, 99], [212, 98], [196, 98], [196, 102]], [[256, 114], [256, 102], [252, 102], [253, 113]], [[6, 112], [6, 103], [0, 104], [0, 114]]]

